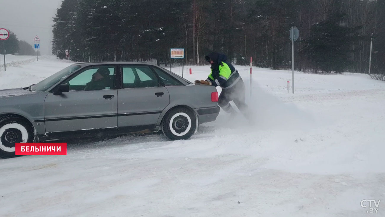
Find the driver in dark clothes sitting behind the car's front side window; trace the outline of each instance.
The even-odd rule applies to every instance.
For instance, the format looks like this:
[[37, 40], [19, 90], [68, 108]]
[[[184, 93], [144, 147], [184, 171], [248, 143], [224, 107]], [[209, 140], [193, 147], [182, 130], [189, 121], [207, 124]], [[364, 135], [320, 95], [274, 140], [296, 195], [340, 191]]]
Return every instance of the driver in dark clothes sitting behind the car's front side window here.
[[110, 70], [108, 68], [100, 68], [93, 75], [90, 82], [87, 83], [84, 90], [105, 90], [112, 86], [110, 79]]

